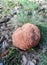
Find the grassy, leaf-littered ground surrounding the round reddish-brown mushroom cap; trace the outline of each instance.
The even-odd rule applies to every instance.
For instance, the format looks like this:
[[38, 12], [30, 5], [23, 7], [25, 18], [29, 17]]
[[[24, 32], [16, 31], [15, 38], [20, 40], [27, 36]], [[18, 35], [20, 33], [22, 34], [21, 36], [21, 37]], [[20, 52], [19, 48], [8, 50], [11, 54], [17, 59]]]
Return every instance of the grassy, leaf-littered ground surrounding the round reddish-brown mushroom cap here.
[[[0, 65], [47, 65], [47, 2], [0, 0]], [[24, 23], [38, 26], [41, 40], [22, 51], [12, 44], [12, 33]]]

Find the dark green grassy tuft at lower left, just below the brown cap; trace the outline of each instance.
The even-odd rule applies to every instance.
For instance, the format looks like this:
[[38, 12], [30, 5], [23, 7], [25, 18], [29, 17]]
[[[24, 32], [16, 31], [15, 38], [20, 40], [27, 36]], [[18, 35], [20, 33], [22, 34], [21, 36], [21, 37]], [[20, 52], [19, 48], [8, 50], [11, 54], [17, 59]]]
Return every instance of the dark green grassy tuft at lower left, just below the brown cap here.
[[18, 49], [8, 49], [9, 54], [5, 58], [5, 62], [3, 61], [4, 65], [21, 65], [20, 62], [20, 54]]

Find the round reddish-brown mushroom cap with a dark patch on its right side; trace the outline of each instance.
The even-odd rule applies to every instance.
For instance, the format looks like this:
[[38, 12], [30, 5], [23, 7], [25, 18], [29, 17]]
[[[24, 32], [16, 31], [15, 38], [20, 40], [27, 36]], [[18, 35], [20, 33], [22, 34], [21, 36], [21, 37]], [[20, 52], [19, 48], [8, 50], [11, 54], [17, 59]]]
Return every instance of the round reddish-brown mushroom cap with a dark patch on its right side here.
[[26, 23], [12, 34], [13, 45], [19, 49], [27, 50], [35, 47], [40, 40], [40, 31], [37, 26]]

